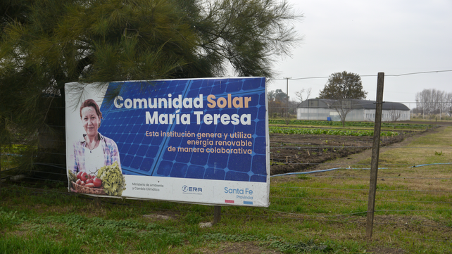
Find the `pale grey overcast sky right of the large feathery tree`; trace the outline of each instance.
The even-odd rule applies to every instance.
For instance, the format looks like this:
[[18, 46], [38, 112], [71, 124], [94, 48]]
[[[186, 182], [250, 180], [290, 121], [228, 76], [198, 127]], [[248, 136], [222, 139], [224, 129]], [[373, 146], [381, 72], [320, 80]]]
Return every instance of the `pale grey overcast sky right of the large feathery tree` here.
[[[384, 101], [413, 108], [422, 89], [452, 92], [451, 71], [403, 75], [452, 70], [451, 0], [288, 1], [303, 13], [295, 23], [303, 41], [290, 57], [277, 61], [275, 78], [292, 78], [291, 99], [303, 88], [311, 88], [310, 98], [315, 98], [327, 83], [327, 78], [306, 77], [344, 70], [361, 76], [370, 100], [375, 100], [378, 72], [385, 74]], [[286, 85], [286, 80], [272, 80], [268, 91], [286, 92]]]

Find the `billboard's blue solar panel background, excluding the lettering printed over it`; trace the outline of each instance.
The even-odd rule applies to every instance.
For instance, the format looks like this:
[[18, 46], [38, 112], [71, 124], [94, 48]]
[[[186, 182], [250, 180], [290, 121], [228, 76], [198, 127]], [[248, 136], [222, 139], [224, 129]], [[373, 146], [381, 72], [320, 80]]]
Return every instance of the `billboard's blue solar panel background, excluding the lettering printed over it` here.
[[[146, 111], [151, 115], [173, 114], [175, 108], [115, 108], [112, 96], [117, 93], [118, 83], [112, 82], [101, 106], [103, 120], [99, 132], [113, 139], [120, 151], [121, 166], [124, 174], [149, 175], [159, 177], [182, 177], [194, 179], [218, 179], [244, 182], [266, 182], [266, 139], [265, 139], [265, 78], [230, 78], [205, 80], [162, 80], [153, 82], [125, 82], [119, 95], [123, 99], [167, 98], [172, 99], [180, 94], [184, 98], [198, 98], [203, 95], [203, 108], [181, 108], [180, 114], [191, 114], [190, 125], [146, 125]], [[208, 108], [207, 96], [215, 95], [216, 99], [227, 97], [251, 96], [249, 108]], [[205, 114], [251, 114], [251, 125], [201, 125], [196, 124], [194, 111]], [[192, 133], [251, 133], [252, 139], [232, 139], [234, 141], [251, 141], [252, 153], [222, 154], [206, 153], [206, 148], [237, 146], [194, 146], [187, 145], [187, 140], [195, 138], [180, 138], [167, 136], [146, 136], [149, 132], [192, 132]], [[205, 140], [204, 138], [201, 140]], [[212, 139], [210, 139], [212, 140]], [[217, 139], [213, 139], [214, 141]], [[223, 139], [224, 140], [224, 139]], [[228, 136], [227, 140], [231, 140]], [[204, 153], [170, 152], [173, 147], [203, 147]], [[249, 146], [242, 147], [249, 149]]]

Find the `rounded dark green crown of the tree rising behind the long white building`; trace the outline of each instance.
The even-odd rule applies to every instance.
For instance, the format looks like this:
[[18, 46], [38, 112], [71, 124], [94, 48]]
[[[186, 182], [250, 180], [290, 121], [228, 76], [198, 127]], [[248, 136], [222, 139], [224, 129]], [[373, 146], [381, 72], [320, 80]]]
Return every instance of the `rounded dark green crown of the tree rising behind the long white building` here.
[[361, 77], [353, 72], [335, 72], [329, 75], [325, 87], [320, 91], [321, 99], [365, 99], [368, 92], [363, 90]]

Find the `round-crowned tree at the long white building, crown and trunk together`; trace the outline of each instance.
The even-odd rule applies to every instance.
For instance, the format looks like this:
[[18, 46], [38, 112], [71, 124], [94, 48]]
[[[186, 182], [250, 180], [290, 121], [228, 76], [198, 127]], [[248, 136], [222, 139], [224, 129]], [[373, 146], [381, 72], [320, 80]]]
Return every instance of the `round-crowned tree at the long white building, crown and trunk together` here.
[[363, 90], [363, 83], [358, 74], [343, 71], [329, 75], [319, 98], [327, 99], [329, 106], [337, 111], [342, 126], [345, 127], [347, 114], [356, 107], [357, 100], [365, 99], [367, 94], [368, 92]]

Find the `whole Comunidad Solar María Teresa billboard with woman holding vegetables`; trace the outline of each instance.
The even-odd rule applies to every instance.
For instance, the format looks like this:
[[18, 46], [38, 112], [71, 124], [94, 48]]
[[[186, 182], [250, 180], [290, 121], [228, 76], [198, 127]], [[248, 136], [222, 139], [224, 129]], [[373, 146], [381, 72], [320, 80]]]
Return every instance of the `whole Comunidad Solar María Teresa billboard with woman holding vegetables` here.
[[69, 191], [269, 205], [265, 77], [73, 82], [65, 102]]

